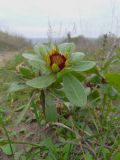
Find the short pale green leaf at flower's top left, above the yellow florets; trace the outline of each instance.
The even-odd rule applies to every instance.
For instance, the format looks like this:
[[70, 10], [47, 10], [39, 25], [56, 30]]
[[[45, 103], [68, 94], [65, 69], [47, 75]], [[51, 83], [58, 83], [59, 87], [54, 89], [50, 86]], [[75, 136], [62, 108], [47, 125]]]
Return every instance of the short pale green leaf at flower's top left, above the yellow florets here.
[[48, 53], [48, 48], [47, 48], [47, 46], [45, 46], [43, 44], [37, 44], [34, 47], [34, 51], [38, 55], [44, 57]]

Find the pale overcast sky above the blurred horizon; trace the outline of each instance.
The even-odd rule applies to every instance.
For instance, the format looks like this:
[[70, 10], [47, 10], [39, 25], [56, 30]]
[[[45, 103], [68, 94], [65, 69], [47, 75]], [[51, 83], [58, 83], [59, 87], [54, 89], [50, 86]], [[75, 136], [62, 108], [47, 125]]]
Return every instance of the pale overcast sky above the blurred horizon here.
[[27, 38], [120, 36], [120, 0], [0, 0], [0, 29]]

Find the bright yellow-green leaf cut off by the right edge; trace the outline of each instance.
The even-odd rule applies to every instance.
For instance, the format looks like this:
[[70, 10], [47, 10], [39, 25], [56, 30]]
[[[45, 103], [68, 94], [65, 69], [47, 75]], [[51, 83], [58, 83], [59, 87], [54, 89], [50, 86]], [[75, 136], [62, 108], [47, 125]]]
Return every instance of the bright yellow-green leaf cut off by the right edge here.
[[110, 85], [120, 91], [120, 73], [109, 73], [106, 75], [106, 79]]

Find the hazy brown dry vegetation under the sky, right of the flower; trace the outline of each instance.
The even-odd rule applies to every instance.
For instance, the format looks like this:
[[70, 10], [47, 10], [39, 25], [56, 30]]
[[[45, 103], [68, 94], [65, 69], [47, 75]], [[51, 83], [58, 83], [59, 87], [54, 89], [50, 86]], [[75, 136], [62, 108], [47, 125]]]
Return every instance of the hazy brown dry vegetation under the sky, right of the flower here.
[[101, 35], [98, 38], [86, 38], [82, 35], [72, 38], [68, 34], [67, 41], [74, 42], [76, 44], [76, 50], [90, 54], [98, 53], [98, 50], [103, 48], [105, 51], [109, 51], [114, 43], [117, 46], [120, 44], [120, 38], [111, 33]]

